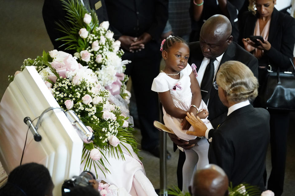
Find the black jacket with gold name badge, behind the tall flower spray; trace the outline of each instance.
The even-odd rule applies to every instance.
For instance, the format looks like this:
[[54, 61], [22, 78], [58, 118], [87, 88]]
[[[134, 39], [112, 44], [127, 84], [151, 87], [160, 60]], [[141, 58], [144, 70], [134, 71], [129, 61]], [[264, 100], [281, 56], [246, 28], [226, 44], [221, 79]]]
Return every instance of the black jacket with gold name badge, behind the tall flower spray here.
[[[79, 0], [80, 1], [80, 0]], [[99, 23], [103, 21], [108, 21], [108, 14], [106, 11], [106, 6], [104, 0], [89, 0], [90, 8], [96, 10], [96, 15], [98, 17]], [[99, 5], [96, 6], [95, 5]], [[49, 38], [54, 46], [54, 49], [65, 51], [65, 46], [60, 47], [65, 42], [55, 41], [57, 38], [65, 36], [61, 31], [58, 31], [59, 28], [55, 22], [65, 21], [65, 10], [63, 9], [63, 4], [60, 0], [44, 0], [42, 8], [42, 16], [44, 24], [49, 35]], [[71, 52], [71, 51], [68, 51]], [[75, 51], [74, 51], [75, 52]]]

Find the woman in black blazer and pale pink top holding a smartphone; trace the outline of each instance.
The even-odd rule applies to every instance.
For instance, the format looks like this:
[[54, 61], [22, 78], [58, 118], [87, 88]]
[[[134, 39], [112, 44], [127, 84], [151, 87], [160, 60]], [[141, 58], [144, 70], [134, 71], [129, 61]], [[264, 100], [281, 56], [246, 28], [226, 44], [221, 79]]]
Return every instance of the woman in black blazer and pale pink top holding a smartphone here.
[[[295, 19], [279, 12], [274, 7], [275, 4], [276, 0], [249, 0], [250, 11], [243, 13], [239, 18], [239, 44], [258, 59], [259, 86], [265, 81], [269, 65], [273, 71], [280, 68], [281, 72], [292, 66], [289, 58], [293, 58]], [[257, 39], [259, 37], [256, 37], [256, 41], [253, 38], [251, 40], [250, 36], [262, 36], [263, 41]], [[254, 106], [260, 105], [256, 99]], [[268, 189], [277, 196], [282, 194], [284, 186], [289, 112], [270, 109], [268, 111], [272, 162]]]

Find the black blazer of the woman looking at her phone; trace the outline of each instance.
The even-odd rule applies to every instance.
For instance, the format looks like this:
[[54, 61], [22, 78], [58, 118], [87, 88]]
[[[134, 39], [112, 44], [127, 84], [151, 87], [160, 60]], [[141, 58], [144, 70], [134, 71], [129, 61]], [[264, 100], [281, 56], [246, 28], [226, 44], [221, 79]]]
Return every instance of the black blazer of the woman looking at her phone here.
[[[254, 34], [254, 28], [258, 19], [258, 13], [243, 13], [240, 21], [240, 36], [238, 43], [244, 47], [242, 38], [248, 38]], [[293, 59], [293, 50], [295, 43], [295, 19], [285, 13], [273, 9], [269, 26], [268, 41], [271, 44], [269, 51], [264, 51], [264, 62], [269, 62], [274, 70], [277, 67], [287, 69], [291, 66], [289, 58]]]

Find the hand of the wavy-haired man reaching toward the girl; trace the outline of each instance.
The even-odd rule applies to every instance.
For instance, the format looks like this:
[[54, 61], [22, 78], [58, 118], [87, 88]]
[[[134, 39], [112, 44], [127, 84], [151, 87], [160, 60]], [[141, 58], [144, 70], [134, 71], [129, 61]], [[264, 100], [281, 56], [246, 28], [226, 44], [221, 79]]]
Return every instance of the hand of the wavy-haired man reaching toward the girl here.
[[191, 124], [191, 126], [194, 127], [194, 131], [187, 131], [188, 135], [195, 135], [198, 137], [205, 136], [207, 127], [198, 116], [196, 118], [193, 113], [190, 114], [187, 112], [187, 116], [185, 118]]

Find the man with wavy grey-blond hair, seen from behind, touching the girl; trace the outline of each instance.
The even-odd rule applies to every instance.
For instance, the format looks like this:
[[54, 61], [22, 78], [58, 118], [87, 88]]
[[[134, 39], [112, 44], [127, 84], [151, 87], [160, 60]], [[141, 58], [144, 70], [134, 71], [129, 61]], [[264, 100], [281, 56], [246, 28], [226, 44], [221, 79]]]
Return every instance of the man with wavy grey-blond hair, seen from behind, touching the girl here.
[[258, 80], [243, 63], [227, 61], [220, 66], [213, 84], [228, 108], [225, 121], [217, 129], [208, 130], [201, 119], [187, 113], [186, 119], [195, 129], [187, 134], [209, 139], [209, 163], [220, 166], [233, 187], [248, 183], [264, 191], [269, 113], [254, 108], [249, 101], [258, 94]]

